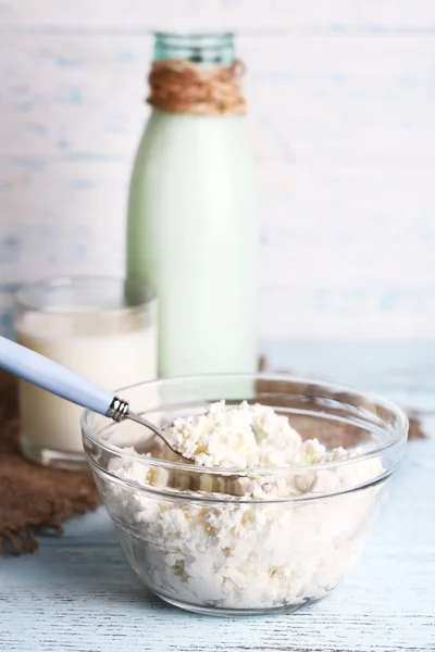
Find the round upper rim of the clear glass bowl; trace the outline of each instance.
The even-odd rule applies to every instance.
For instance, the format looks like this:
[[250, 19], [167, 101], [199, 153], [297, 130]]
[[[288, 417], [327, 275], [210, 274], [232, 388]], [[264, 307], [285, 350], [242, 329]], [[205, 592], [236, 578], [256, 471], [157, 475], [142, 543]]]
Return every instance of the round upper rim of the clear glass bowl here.
[[[394, 429], [391, 429], [391, 436], [389, 441], [386, 441], [385, 443], [383, 443], [382, 446], [370, 450], [368, 452], [364, 453], [357, 453], [356, 455], [352, 455], [351, 457], [345, 457], [343, 460], [335, 460], [332, 462], [324, 462], [324, 463], [320, 463], [320, 464], [301, 464], [301, 465], [297, 465], [295, 466], [295, 468], [297, 468], [298, 471], [324, 471], [327, 468], [339, 468], [341, 466], [347, 466], [349, 464], [358, 464], [360, 462], [364, 462], [368, 460], [372, 460], [373, 457], [377, 457], [380, 454], [393, 449], [394, 447], [405, 442], [407, 440], [408, 437], [408, 429], [409, 429], [409, 419], [406, 415], [406, 413], [403, 412], [403, 410], [401, 408], [399, 408], [399, 405], [397, 405], [394, 401], [390, 401], [389, 399], [385, 399], [384, 397], [372, 392], [372, 391], [364, 391], [364, 390], [359, 390], [359, 389], [355, 389], [352, 387], [346, 386], [346, 385], [339, 385], [336, 383], [330, 383], [327, 380], [318, 380], [314, 378], [306, 378], [303, 376], [293, 376], [290, 374], [285, 374], [285, 373], [263, 373], [263, 372], [259, 372], [259, 373], [251, 373], [251, 374], [198, 374], [198, 375], [191, 375], [191, 376], [176, 376], [176, 377], [171, 377], [171, 378], [154, 378], [152, 380], [146, 380], [142, 383], [136, 383], [134, 385], [129, 385], [127, 387], [123, 387], [119, 390], [115, 391], [116, 396], [121, 394], [121, 392], [123, 391], [127, 391], [127, 390], [132, 390], [135, 389], [137, 387], [150, 387], [150, 386], [160, 386], [163, 384], [169, 384], [169, 383], [174, 383], [174, 381], [178, 381], [178, 383], [183, 383], [183, 381], [200, 381], [200, 380], [204, 380], [204, 379], [256, 379], [256, 380], [269, 380], [269, 381], [287, 381], [287, 383], [294, 383], [294, 384], [304, 384], [306, 386], [323, 386], [325, 388], [327, 388], [330, 391], [332, 392], [337, 392], [337, 393], [348, 393], [348, 394], [352, 394], [356, 398], [361, 398], [364, 399], [365, 402], [370, 402], [370, 403], [375, 403], [386, 410], [388, 410], [390, 413], [393, 413], [398, 423], [396, 426], [394, 426]], [[261, 404], [261, 403], [260, 403]], [[83, 438], [84, 440], [89, 439], [94, 444], [96, 444], [97, 447], [99, 447], [100, 449], [103, 449], [105, 452], [108, 453], [114, 453], [116, 456], [122, 457], [122, 459], [130, 459], [130, 460], [135, 460], [135, 461], [142, 461], [146, 462], [147, 465], [150, 466], [154, 466], [154, 467], [161, 467], [161, 468], [173, 468], [173, 469], [177, 469], [177, 471], [189, 471], [190, 473], [201, 473], [201, 474], [210, 474], [210, 475], [240, 475], [240, 476], [246, 476], [247, 474], [269, 474], [269, 475], [273, 475], [274, 473], [283, 473], [283, 472], [287, 472], [293, 468], [293, 466], [265, 466], [265, 467], [222, 467], [222, 466], [202, 466], [202, 465], [196, 465], [196, 464], [186, 464], [184, 462], [172, 462], [172, 461], [165, 461], [165, 460], [161, 460], [159, 457], [152, 457], [149, 455], [145, 455], [142, 453], [137, 453], [135, 450], [125, 450], [121, 447], [117, 447], [113, 443], [108, 442], [107, 440], [102, 439], [101, 437], [99, 437], [95, 431], [92, 431], [92, 428], [90, 427], [88, 419], [89, 417], [96, 414], [94, 411], [91, 410], [85, 410], [82, 415], [80, 415], [80, 427], [82, 427], [82, 432], [83, 432]], [[348, 419], [341, 418], [341, 419], [337, 419], [337, 421], [343, 421], [344, 423], [346, 423]], [[85, 452], [86, 452], [86, 446], [85, 446]], [[87, 454], [87, 452], [86, 452]], [[87, 454], [88, 455], [88, 454]], [[107, 469], [104, 469], [107, 471]], [[117, 477], [117, 476], [115, 476]], [[138, 482], [138, 486], [141, 486], [144, 488], [142, 485], [140, 485]]]

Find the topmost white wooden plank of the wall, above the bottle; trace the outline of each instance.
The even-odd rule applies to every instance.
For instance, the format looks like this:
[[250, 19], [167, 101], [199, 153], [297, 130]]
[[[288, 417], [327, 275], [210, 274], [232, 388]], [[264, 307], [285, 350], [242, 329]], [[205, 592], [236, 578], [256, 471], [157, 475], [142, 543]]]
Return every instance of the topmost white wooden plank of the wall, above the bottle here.
[[428, 29], [432, 0], [2, 0], [1, 24], [33, 28]]

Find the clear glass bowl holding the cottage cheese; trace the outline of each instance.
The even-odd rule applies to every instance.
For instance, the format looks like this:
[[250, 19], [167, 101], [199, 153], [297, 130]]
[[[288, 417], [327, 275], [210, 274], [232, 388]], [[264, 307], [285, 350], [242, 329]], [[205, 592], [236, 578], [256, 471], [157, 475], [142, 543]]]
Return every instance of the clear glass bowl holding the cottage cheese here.
[[128, 562], [157, 595], [198, 613], [291, 613], [327, 595], [361, 551], [406, 450], [399, 408], [325, 383], [216, 375], [119, 396], [159, 426], [222, 399], [261, 403], [303, 439], [351, 452], [310, 466], [201, 467], [159, 459], [142, 426], [83, 414], [85, 451]]

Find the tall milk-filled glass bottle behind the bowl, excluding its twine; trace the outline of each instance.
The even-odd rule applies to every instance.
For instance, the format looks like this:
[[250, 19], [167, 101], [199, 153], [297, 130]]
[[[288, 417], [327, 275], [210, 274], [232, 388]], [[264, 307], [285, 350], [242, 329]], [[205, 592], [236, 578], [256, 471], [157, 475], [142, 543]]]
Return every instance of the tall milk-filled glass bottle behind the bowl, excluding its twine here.
[[[233, 35], [156, 35], [154, 61], [234, 63]], [[257, 220], [246, 117], [152, 108], [134, 164], [127, 274], [159, 299], [161, 377], [257, 369]]]

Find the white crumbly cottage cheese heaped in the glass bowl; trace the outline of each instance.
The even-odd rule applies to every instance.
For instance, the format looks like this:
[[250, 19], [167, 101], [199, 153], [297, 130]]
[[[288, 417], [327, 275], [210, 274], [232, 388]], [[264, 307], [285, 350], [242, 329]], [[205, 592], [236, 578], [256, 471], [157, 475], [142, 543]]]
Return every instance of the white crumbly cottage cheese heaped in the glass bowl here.
[[[162, 497], [116, 484], [104, 487], [125, 552], [154, 592], [194, 607], [295, 609], [324, 597], [343, 579], [382, 485], [331, 493], [378, 477], [377, 462], [298, 469], [349, 453], [326, 451], [316, 439], [302, 441], [286, 417], [247, 403], [212, 404], [204, 415], [176, 419], [172, 435], [197, 463], [246, 473], [231, 496], [222, 493], [225, 484], [220, 492], [219, 480], [200, 474], [197, 500], [183, 491]], [[279, 469], [256, 471], [265, 466]], [[146, 459], [112, 461], [111, 472], [144, 489], [164, 487], [167, 474]], [[286, 500], [301, 497], [316, 500]]]

